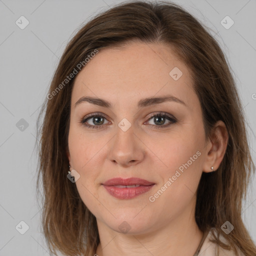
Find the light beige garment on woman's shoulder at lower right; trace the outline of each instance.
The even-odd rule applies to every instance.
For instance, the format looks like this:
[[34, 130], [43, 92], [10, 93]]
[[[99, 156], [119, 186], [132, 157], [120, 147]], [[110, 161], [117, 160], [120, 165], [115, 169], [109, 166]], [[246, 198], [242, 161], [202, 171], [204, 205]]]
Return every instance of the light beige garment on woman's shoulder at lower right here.
[[[210, 240], [213, 239], [212, 233], [215, 232], [215, 228], [211, 228], [208, 235], [206, 236], [198, 256], [236, 256], [233, 250], [226, 250], [223, 249], [221, 246], [217, 245], [216, 243], [211, 242]], [[220, 240], [228, 244], [228, 241], [224, 238], [222, 234], [220, 234]], [[218, 252], [218, 254], [217, 254]], [[239, 250], [239, 256], [244, 256], [244, 254]]]

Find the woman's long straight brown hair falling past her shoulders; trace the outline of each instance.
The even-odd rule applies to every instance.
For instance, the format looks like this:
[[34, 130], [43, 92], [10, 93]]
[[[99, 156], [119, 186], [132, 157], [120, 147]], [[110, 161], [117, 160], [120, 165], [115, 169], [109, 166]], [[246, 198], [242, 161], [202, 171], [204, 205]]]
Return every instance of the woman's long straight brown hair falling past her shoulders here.
[[[201, 175], [195, 220], [203, 232], [216, 228], [214, 242], [221, 247], [237, 252], [236, 245], [245, 256], [255, 254], [256, 247], [241, 219], [242, 199], [255, 166], [235, 82], [218, 43], [203, 25], [182, 7], [163, 1], [121, 3], [97, 14], [78, 30], [61, 56], [48, 92], [53, 95], [55, 91], [54, 98], [47, 96], [37, 119], [37, 136], [40, 136], [37, 193], [41, 180], [44, 195], [41, 221], [50, 252], [55, 254], [57, 249], [65, 255], [88, 256], [96, 252], [99, 243], [95, 216], [82, 202], [75, 184], [66, 177], [70, 100], [75, 77], [65, 81], [66, 84], [63, 81], [95, 49], [130, 40], [160, 42], [174, 48], [190, 68], [202, 108], [205, 135], [210, 135], [217, 120], [225, 123], [226, 152], [217, 171]], [[234, 226], [228, 235], [220, 229], [226, 220]], [[221, 232], [230, 246], [220, 241]]]

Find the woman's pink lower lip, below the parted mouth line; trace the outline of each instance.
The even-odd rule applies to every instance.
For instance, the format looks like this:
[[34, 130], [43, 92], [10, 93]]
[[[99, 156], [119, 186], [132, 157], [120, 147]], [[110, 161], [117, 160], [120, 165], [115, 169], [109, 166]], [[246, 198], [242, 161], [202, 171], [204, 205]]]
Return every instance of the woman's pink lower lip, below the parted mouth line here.
[[112, 196], [116, 197], [116, 198], [120, 198], [120, 199], [130, 199], [133, 198], [135, 196], [138, 196], [139, 194], [145, 193], [147, 191], [149, 191], [152, 185], [147, 185], [147, 186], [137, 186], [137, 187], [124, 187], [124, 188], [119, 188], [116, 186], [107, 186], [107, 185], [103, 185], [103, 187], [107, 190], [107, 192], [109, 194], [111, 194]]

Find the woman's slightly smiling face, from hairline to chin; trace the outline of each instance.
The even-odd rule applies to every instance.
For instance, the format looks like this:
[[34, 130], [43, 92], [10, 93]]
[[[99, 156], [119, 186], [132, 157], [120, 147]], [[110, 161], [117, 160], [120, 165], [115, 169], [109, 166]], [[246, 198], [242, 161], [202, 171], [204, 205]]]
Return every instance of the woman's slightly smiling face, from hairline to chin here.
[[[163, 96], [176, 99], [150, 99]], [[170, 221], [185, 225], [194, 217], [201, 173], [210, 168], [208, 149], [188, 67], [169, 46], [103, 48], [77, 74], [67, 155], [80, 175], [79, 195], [101, 226], [138, 234]], [[115, 177], [153, 185], [106, 189], [103, 184]]]

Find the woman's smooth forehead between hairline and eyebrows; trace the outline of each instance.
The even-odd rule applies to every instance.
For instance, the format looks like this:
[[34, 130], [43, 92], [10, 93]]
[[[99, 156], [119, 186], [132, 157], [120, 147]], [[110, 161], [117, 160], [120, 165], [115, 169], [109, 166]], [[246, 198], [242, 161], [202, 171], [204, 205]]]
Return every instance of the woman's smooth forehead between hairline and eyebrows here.
[[[175, 80], [171, 77], [173, 73], [182, 75]], [[74, 100], [84, 95], [112, 101], [111, 98], [123, 96], [150, 97], [169, 93], [189, 101], [191, 92], [189, 68], [171, 46], [133, 42], [99, 49], [77, 74], [71, 101], [74, 104]]]

